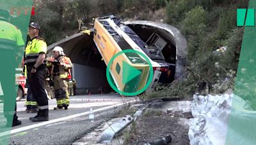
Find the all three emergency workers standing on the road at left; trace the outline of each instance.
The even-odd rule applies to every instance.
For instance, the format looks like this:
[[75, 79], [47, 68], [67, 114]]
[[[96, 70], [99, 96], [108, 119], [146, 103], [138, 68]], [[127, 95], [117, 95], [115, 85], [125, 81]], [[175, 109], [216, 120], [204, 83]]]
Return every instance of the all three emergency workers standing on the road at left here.
[[[49, 120], [49, 106], [47, 92], [45, 91], [45, 84], [52, 84], [54, 88], [54, 96], [56, 98], [56, 107], [58, 109], [68, 109], [68, 79], [71, 79], [70, 69], [72, 68], [71, 60], [65, 56], [63, 48], [60, 46], [54, 47], [51, 57], [47, 57], [47, 44], [44, 38], [39, 36], [40, 25], [36, 22], [29, 24], [28, 36], [30, 41], [26, 47], [22, 39], [21, 31], [10, 23], [10, 13], [6, 10], [0, 10], [0, 62], [10, 62], [6, 66], [6, 71], [0, 75], [1, 88], [3, 88], [3, 102], [4, 102], [4, 117], [7, 119], [7, 127], [20, 125], [21, 121], [17, 116], [17, 105], [11, 102], [14, 100], [15, 92], [15, 62], [14, 54], [19, 49], [24, 49], [24, 75], [27, 76], [27, 100], [26, 112], [37, 113], [29, 120], [48, 121]], [[2, 56], [3, 55], [3, 56]], [[17, 64], [15, 64], [17, 63]], [[47, 79], [48, 81], [47, 81]], [[12, 83], [13, 82], [13, 83]], [[49, 83], [52, 82], [52, 83]], [[8, 90], [9, 89], [9, 90]], [[12, 107], [13, 106], [13, 107]]]

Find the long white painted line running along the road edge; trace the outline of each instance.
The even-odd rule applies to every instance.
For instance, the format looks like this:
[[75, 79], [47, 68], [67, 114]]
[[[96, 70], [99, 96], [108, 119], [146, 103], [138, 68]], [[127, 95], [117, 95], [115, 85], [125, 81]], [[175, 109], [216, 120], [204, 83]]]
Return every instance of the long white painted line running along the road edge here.
[[[102, 107], [102, 108], [99, 108], [99, 109], [95, 109], [93, 111], [93, 113], [97, 112], [97, 111], [104, 111], [106, 109], [110, 109], [112, 107], [118, 107], [118, 106], [122, 106], [124, 104], [127, 104], [127, 103], [130, 103], [130, 102], [135, 102], [136, 100], [131, 100], [129, 102], [125, 102], [125, 103], [122, 103], [122, 104], [116, 104], [116, 105], [113, 105], [113, 106], [108, 106], [108, 107]], [[63, 118], [58, 118], [58, 119], [55, 119], [55, 120], [49, 120], [49, 121], [44, 121], [42, 123], [38, 123], [38, 124], [34, 124], [34, 125], [29, 125], [27, 127], [20, 127], [20, 128], [17, 128], [17, 129], [14, 129], [14, 130], [11, 130], [10, 131], [6, 131], [6, 132], [1, 132], [0, 134], [0, 137], [3, 137], [5, 135], [10, 135], [10, 134], [15, 134], [17, 132], [23, 132], [24, 130], [29, 130], [31, 128], [36, 128], [36, 127], [42, 127], [44, 125], [49, 125], [51, 123], [56, 123], [58, 121], [64, 121], [64, 120], [70, 120], [71, 118], [76, 118], [76, 117], [79, 117], [79, 116], [83, 116], [83, 115], [86, 115], [86, 114], [90, 114], [90, 111], [87, 111], [85, 113], [79, 113], [79, 114], [74, 114], [74, 115], [71, 115], [71, 116], [66, 116], [66, 117], [63, 117]]]

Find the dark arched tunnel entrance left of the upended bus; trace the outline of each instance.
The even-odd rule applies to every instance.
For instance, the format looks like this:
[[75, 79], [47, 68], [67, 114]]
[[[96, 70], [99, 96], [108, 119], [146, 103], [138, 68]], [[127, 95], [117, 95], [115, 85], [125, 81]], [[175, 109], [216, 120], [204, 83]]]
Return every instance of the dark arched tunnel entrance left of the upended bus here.
[[93, 33], [78, 33], [47, 48], [47, 56], [52, 55], [54, 46], [61, 46], [67, 57], [72, 60], [72, 78], [77, 83], [77, 94], [109, 93], [111, 87], [106, 79], [106, 64], [95, 44]]

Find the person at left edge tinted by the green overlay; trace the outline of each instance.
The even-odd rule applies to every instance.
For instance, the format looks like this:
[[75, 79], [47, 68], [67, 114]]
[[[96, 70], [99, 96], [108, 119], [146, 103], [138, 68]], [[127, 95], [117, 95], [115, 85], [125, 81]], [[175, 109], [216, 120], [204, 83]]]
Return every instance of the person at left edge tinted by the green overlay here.
[[[7, 119], [6, 127], [20, 125], [16, 114], [15, 98], [15, 53], [24, 49], [24, 41], [20, 30], [15, 25], [10, 24], [10, 13], [0, 10], [0, 81], [3, 90], [4, 117]], [[20, 50], [19, 50], [20, 49]], [[18, 62], [18, 61], [17, 61]], [[17, 65], [18, 66], [18, 65]], [[2, 99], [1, 99], [2, 100]]]

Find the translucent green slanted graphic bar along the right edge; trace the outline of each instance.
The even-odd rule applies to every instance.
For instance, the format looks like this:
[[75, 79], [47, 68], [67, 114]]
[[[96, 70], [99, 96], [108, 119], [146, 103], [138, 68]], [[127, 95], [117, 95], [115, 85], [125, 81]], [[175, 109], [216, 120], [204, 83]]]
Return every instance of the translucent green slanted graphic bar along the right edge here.
[[[256, 8], [250, 0], [248, 8]], [[249, 12], [249, 11], [248, 11]], [[250, 16], [249, 16], [250, 15]], [[254, 21], [254, 11], [246, 22]], [[249, 20], [252, 18], [252, 20]], [[246, 24], [247, 25], [247, 24]], [[225, 144], [256, 144], [256, 27], [244, 27], [243, 43], [237, 68], [236, 86], [228, 120]], [[245, 102], [241, 101], [244, 100]]]

